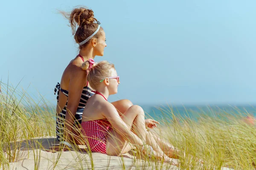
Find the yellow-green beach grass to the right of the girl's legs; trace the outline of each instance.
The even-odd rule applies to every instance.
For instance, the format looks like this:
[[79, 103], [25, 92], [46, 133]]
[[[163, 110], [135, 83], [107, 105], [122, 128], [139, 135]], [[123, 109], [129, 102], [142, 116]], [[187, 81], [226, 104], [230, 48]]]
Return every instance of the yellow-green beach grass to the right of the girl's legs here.
[[[231, 106], [230, 106], [231, 107]], [[222, 110], [200, 112], [197, 119], [178, 116], [171, 107], [159, 108], [163, 116], [165, 138], [186, 156], [180, 159], [180, 168], [197, 169], [194, 158], [204, 161], [202, 169], [255, 169], [256, 127], [244, 121], [249, 113], [233, 107], [235, 113]], [[168, 117], [168, 118], [167, 118]], [[193, 160], [191, 160], [191, 157]]]

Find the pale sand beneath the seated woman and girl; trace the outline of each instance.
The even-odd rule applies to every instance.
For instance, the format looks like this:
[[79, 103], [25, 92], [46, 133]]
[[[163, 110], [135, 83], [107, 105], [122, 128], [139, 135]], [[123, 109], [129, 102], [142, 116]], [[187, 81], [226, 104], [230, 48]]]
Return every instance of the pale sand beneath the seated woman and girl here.
[[[102, 153], [76, 152], [65, 151], [51, 153], [46, 150], [53, 145], [58, 145], [58, 141], [55, 136], [45, 136], [37, 139], [31, 139], [29, 141], [19, 142], [22, 153], [19, 156], [19, 160], [9, 163], [9, 167], [12, 170], [80, 170], [80, 169], [94, 169], [94, 170], [137, 170], [137, 169], [168, 169], [179, 170], [178, 167], [171, 164], [164, 163], [156, 164], [154, 162], [149, 163], [141, 159], [136, 159], [133, 156], [132, 151], [118, 156], [108, 156]], [[79, 145], [80, 148], [84, 146]], [[90, 159], [92, 157], [92, 159]], [[91, 166], [91, 160], [93, 161], [93, 167]], [[177, 159], [173, 159], [177, 162]], [[3, 169], [0, 168], [0, 169]], [[229, 170], [223, 168], [223, 170]]]

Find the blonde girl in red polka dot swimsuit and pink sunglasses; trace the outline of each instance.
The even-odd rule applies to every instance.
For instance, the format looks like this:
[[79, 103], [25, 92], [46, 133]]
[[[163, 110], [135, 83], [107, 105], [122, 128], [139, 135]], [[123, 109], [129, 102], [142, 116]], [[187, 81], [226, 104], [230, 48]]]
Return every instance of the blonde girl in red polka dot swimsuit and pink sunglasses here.
[[89, 69], [87, 79], [95, 89], [95, 95], [88, 99], [84, 108], [81, 123], [82, 134], [91, 152], [120, 156], [135, 146], [148, 156], [165, 160], [178, 158], [178, 150], [147, 131], [145, 114], [140, 106], [132, 105], [120, 116], [108, 102], [108, 96], [117, 93], [120, 83], [113, 64], [89, 60], [82, 68]]

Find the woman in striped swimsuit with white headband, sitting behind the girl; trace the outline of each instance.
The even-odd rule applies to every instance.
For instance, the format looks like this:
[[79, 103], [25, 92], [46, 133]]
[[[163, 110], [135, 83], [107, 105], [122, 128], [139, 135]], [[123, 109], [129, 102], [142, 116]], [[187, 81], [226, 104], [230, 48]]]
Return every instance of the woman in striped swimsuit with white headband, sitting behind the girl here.
[[[95, 23], [97, 20], [92, 10], [75, 8], [70, 14], [65, 12], [61, 14], [69, 19], [75, 34], [74, 38], [79, 44], [79, 54], [67, 65], [61, 77], [61, 84], [58, 83], [55, 87], [55, 94], [58, 94], [56, 134], [60, 141], [59, 147], [51, 148], [55, 151], [69, 149], [64, 144], [66, 140], [73, 144], [81, 143], [79, 137], [81, 115], [87, 99], [94, 94], [87, 81], [87, 71], [81, 68], [81, 64], [94, 59], [95, 56], [103, 56], [104, 48], [107, 46], [105, 32], [99, 22]], [[112, 104], [119, 114], [125, 113], [132, 105], [127, 99], [112, 102]], [[148, 119], [146, 123], [148, 127], [155, 127], [158, 122]]]

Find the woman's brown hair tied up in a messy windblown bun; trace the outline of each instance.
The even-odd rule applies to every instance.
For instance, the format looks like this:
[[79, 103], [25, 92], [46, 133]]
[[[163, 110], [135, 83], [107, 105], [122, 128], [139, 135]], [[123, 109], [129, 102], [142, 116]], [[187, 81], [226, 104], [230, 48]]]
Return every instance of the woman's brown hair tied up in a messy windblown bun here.
[[[60, 13], [69, 20], [70, 26], [72, 28], [72, 34], [76, 43], [80, 43], [92, 35], [98, 28], [97, 19], [94, 18], [93, 10], [84, 7], [75, 8], [71, 13], [60, 11]], [[76, 30], [76, 26], [78, 26]], [[102, 34], [103, 28], [100, 27], [99, 31], [92, 38], [99, 38]], [[86, 42], [80, 45], [79, 48], [82, 49], [89, 43]]]

